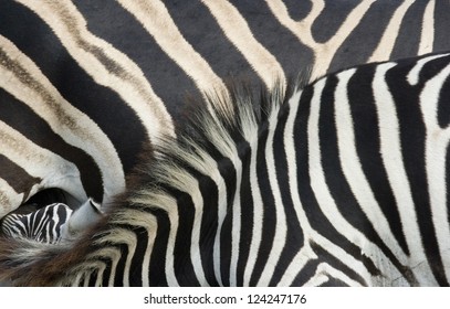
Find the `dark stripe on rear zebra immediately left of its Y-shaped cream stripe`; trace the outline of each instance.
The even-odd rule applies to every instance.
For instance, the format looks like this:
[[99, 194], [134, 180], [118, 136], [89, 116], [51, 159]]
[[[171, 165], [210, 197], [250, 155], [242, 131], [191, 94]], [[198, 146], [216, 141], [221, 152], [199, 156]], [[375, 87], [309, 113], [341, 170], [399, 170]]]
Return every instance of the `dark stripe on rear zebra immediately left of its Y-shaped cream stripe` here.
[[[311, 66], [314, 62], [312, 50], [280, 24], [265, 2], [240, 0], [231, 2], [245, 19], [258, 42], [280, 63], [286, 76], [295, 77]], [[297, 2], [297, 7], [301, 7], [302, 2], [304, 1]]]

